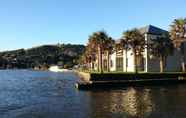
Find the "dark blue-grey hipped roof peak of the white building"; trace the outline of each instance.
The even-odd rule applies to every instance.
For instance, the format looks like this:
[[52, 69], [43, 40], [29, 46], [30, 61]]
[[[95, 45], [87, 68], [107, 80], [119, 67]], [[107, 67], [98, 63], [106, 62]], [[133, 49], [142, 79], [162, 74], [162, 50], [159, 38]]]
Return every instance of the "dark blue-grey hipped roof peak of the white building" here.
[[168, 31], [160, 29], [160, 28], [152, 26], [152, 25], [147, 25], [145, 27], [139, 28], [139, 30], [142, 34], [147, 33], [147, 34], [160, 35], [160, 34], [163, 34], [163, 33], [168, 33]]

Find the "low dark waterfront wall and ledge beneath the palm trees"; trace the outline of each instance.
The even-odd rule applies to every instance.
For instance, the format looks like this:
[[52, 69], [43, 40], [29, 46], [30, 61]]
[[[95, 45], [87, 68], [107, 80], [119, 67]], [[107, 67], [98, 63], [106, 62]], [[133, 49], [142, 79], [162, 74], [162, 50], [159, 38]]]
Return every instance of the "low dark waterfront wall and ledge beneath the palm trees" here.
[[81, 80], [75, 87], [79, 90], [186, 84], [186, 73], [77, 73]]

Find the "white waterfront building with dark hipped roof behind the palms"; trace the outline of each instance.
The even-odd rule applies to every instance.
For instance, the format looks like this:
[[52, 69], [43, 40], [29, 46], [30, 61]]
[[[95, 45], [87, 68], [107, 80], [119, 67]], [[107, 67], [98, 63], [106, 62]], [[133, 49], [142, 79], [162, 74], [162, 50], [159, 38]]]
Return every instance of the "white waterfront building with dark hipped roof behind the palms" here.
[[[139, 28], [140, 32], [144, 35], [145, 40], [148, 44], [152, 44], [152, 40], [156, 40], [157, 37], [163, 36], [163, 34], [168, 33], [168, 31], [160, 29], [158, 27], [148, 25], [146, 27]], [[120, 43], [120, 40], [117, 40], [116, 43]], [[185, 54], [186, 55], [186, 43]], [[164, 62], [164, 71], [165, 72], [179, 72], [181, 71], [181, 61], [180, 53], [177, 49], [174, 49], [173, 55], [170, 55], [166, 58]], [[145, 48], [142, 56], [137, 56], [137, 70], [139, 72], [160, 72], [159, 58], [153, 57], [149, 53], [149, 49]], [[97, 70], [97, 62], [93, 63], [93, 69]], [[185, 60], [186, 62], [186, 60]], [[103, 70], [107, 69], [107, 57], [103, 54], [102, 59]], [[113, 50], [113, 53], [110, 55], [109, 59], [109, 68], [110, 71], [117, 72], [135, 72], [134, 66], [134, 55], [133, 51], [130, 50]]]

